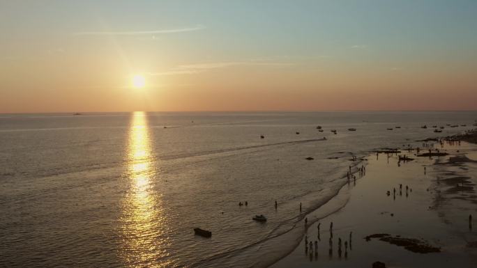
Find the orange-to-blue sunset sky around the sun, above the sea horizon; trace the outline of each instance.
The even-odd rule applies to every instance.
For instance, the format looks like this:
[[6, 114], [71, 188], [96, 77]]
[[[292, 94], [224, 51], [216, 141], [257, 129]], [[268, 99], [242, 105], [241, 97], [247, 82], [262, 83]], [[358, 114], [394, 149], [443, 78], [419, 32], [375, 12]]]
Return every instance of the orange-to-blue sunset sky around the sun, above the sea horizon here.
[[0, 0], [0, 113], [476, 110], [476, 29], [475, 0]]

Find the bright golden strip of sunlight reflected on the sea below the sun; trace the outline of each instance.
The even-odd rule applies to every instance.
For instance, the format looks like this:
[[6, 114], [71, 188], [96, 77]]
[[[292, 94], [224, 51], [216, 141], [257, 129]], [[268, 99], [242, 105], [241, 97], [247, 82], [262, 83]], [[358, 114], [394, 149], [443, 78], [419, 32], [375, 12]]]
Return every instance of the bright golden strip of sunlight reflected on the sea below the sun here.
[[128, 144], [128, 193], [121, 219], [125, 264], [128, 267], [167, 267], [172, 263], [165, 250], [165, 215], [160, 194], [153, 190], [151, 140], [147, 115], [132, 114]]

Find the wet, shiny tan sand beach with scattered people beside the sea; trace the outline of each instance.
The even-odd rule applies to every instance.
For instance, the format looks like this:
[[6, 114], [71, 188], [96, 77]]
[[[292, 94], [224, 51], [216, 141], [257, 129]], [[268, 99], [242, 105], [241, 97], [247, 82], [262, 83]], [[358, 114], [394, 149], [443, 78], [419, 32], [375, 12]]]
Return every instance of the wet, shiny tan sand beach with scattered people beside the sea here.
[[[351, 180], [330, 201], [347, 201], [346, 205], [308, 226], [306, 239], [308, 245], [312, 242], [311, 254], [303, 237], [292, 253], [271, 267], [372, 267], [376, 261], [386, 267], [476, 267], [477, 162], [472, 158], [477, 146], [462, 143], [441, 148], [437, 143], [436, 148], [449, 155], [430, 159], [403, 150], [398, 155], [409, 155], [414, 161], [401, 161], [400, 166], [398, 155], [389, 159], [382, 153], [379, 157], [370, 155], [365, 175], [356, 173], [356, 184]], [[326, 211], [327, 205], [314, 214], [323, 215], [319, 211]], [[474, 226], [469, 225], [469, 214], [473, 214]], [[365, 239], [370, 235], [377, 238]], [[420, 253], [410, 250], [416, 249], [416, 244], [409, 248], [406, 243], [432, 250]]]

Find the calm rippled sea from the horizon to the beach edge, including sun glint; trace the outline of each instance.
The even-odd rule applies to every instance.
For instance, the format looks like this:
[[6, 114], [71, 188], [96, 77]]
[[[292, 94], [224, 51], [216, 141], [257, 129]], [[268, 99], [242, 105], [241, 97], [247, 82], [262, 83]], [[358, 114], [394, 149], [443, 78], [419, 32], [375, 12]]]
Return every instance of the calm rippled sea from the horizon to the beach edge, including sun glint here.
[[296, 223], [346, 183], [351, 155], [475, 120], [476, 111], [3, 114], [0, 267], [273, 262], [303, 235]]

